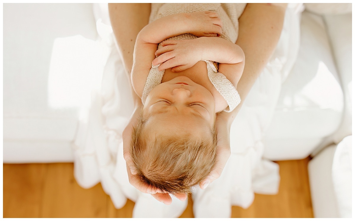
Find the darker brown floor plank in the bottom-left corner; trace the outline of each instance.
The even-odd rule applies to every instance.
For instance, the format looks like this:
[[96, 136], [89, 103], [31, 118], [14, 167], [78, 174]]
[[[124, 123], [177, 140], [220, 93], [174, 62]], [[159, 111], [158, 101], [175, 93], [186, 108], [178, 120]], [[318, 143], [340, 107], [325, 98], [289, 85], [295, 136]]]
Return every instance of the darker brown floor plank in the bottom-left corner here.
[[39, 217], [46, 172], [46, 164], [3, 165], [4, 218]]

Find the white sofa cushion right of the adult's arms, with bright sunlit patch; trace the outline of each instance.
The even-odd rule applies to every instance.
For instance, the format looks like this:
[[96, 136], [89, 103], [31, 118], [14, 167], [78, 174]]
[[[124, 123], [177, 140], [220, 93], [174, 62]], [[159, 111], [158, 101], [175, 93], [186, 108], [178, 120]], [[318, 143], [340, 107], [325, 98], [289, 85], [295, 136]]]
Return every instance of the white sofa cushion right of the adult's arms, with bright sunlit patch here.
[[300, 50], [265, 133], [264, 157], [303, 159], [339, 127], [343, 92], [321, 16], [304, 11]]

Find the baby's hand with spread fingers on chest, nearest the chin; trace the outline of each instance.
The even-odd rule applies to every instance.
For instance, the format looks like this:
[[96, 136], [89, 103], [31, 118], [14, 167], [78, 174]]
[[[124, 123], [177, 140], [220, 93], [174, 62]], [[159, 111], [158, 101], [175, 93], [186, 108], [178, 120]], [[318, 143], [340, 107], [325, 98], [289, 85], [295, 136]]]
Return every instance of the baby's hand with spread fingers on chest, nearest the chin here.
[[167, 40], [162, 42], [162, 48], [155, 51], [156, 57], [152, 65], [158, 65], [159, 71], [172, 68], [173, 72], [184, 71], [198, 61], [201, 61], [203, 48], [197, 39], [192, 40]]

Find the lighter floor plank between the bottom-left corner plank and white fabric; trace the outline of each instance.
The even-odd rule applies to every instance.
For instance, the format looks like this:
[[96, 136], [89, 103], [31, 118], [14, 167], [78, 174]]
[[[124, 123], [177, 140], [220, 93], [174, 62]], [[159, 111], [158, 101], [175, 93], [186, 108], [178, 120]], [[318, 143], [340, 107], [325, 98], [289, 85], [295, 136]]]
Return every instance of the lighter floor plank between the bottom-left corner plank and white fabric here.
[[43, 186], [40, 217], [106, 217], [107, 195], [101, 184], [83, 189], [75, 181], [73, 164], [49, 164]]

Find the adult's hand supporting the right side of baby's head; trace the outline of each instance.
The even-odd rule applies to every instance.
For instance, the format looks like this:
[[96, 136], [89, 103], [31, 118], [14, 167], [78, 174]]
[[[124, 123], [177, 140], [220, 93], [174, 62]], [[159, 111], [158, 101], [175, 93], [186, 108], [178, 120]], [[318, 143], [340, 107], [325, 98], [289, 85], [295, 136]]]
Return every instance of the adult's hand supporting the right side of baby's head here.
[[216, 131], [217, 131], [217, 156], [216, 164], [212, 169], [209, 176], [200, 182], [200, 188], [206, 189], [209, 183], [220, 177], [223, 168], [230, 156], [230, 124], [227, 118], [217, 114], [216, 118]]

